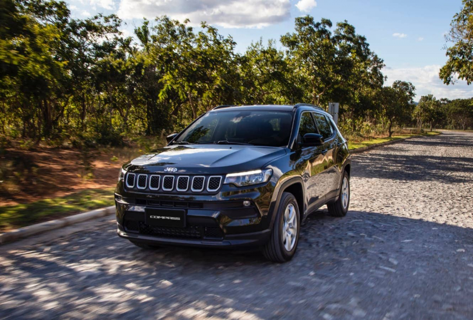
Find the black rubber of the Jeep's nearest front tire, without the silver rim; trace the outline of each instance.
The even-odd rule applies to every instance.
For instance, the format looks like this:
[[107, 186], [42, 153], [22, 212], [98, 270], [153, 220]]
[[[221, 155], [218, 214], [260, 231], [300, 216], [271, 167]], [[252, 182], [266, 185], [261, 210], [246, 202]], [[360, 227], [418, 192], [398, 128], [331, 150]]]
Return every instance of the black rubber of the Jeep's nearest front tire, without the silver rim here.
[[[297, 221], [296, 229], [296, 239], [291, 250], [287, 250], [284, 246], [284, 240], [282, 235], [283, 226], [284, 226], [284, 213], [286, 208], [292, 204], [292, 210], [295, 211], [295, 219]], [[276, 217], [274, 219], [273, 231], [269, 241], [263, 247], [263, 255], [266, 259], [274, 262], [287, 262], [292, 259], [296, 253], [297, 244], [299, 242], [299, 233], [300, 233], [300, 215], [299, 207], [297, 206], [296, 198], [288, 192], [284, 192], [281, 196], [281, 201], [279, 202], [279, 207], [276, 211]], [[284, 230], [285, 231], [285, 230]], [[292, 240], [291, 240], [292, 243]]]

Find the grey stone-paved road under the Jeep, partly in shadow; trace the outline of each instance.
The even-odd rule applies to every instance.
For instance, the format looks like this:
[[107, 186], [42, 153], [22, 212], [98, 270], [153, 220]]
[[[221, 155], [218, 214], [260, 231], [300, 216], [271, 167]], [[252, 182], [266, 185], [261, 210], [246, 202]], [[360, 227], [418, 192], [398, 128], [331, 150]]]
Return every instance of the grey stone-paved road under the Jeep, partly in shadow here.
[[473, 318], [473, 133], [353, 156], [346, 217], [322, 210], [286, 264], [141, 250], [111, 217], [0, 246], [0, 318]]

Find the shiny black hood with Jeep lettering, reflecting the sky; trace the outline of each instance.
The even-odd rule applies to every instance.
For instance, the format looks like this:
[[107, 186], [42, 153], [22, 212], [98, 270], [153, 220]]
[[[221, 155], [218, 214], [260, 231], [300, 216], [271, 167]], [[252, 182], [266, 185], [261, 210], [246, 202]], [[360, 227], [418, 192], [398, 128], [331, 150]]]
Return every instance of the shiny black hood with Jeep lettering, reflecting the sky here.
[[[125, 164], [128, 171], [178, 174], [226, 174], [260, 169], [286, 154], [285, 148], [246, 145], [176, 145]], [[173, 169], [177, 169], [175, 172]]]

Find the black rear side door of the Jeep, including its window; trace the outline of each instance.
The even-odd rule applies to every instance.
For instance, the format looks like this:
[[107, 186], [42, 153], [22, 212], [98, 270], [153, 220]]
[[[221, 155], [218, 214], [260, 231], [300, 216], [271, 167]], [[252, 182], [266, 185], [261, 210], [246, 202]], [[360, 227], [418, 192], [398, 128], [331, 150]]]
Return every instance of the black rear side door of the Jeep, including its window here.
[[[335, 152], [337, 148], [336, 132], [329, 123], [326, 115], [313, 112], [315, 123], [319, 133], [324, 137], [325, 142], [322, 146], [322, 154], [324, 154], [324, 176], [326, 178], [326, 200], [336, 196], [339, 188], [339, 172], [336, 167]], [[335, 195], [334, 195], [335, 193]]]

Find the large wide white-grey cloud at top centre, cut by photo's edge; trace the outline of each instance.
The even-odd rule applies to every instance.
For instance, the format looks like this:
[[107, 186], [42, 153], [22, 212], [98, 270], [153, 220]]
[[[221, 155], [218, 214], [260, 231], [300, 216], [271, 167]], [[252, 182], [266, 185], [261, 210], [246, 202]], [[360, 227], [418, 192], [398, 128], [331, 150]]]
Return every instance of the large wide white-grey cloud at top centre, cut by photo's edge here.
[[117, 13], [123, 19], [168, 15], [189, 18], [192, 25], [207, 21], [227, 28], [261, 28], [288, 19], [290, 9], [290, 0], [121, 0]]

